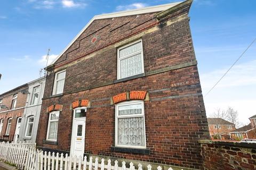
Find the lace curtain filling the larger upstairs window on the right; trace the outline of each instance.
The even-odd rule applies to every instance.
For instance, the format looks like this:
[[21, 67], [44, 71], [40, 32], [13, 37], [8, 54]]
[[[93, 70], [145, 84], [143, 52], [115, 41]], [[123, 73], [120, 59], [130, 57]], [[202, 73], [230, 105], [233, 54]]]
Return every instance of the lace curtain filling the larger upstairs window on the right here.
[[[129, 56], [134, 54], [132, 56]], [[119, 50], [121, 78], [142, 73], [142, 44], [141, 41]], [[126, 57], [129, 56], [129, 57]], [[122, 59], [123, 58], [123, 59]]]

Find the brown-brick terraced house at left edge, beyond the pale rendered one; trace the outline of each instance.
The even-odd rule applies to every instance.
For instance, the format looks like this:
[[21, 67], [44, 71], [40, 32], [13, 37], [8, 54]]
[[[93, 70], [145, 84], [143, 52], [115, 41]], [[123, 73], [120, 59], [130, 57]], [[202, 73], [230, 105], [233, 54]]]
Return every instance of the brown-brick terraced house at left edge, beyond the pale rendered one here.
[[0, 95], [0, 141], [18, 141], [28, 84]]

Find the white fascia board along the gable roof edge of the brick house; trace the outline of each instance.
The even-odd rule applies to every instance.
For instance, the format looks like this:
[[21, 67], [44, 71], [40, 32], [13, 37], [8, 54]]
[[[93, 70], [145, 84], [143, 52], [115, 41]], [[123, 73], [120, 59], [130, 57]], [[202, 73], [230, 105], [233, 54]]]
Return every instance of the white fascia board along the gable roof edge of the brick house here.
[[145, 8], [139, 8], [136, 10], [129, 10], [129, 11], [122, 11], [122, 12], [114, 12], [114, 13], [108, 13], [108, 14], [102, 14], [102, 15], [95, 15], [93, 18], [85, 25], [85, 27], [76, 35], [76, 37], [68, 44], [68, 46], [61, 52], [61, 54], [50, 64], [54, 64], [59, 60], [59, 58], [66, 52], [66, 50], [75, 43], [76, 39], [82, 35], [82, 33], [89, 27], [89, 25], [94, 20], [100, 20], [100, 19], [108, 19], [108, 18], [117, 18], [122, 16], [130, 16], [130, 15], [139, 15], [139, 14], [146, 14], [146, 13], [154, 13], [154, 12], [161, 12], [164, 10], [169, 9], [170, 7], [173, 7], [175, 5], [180, 4], [181, 2], [175, 2], [170, 4], [164, 4], [164, 5], [156, 5], [156, 6], [150, 6]]

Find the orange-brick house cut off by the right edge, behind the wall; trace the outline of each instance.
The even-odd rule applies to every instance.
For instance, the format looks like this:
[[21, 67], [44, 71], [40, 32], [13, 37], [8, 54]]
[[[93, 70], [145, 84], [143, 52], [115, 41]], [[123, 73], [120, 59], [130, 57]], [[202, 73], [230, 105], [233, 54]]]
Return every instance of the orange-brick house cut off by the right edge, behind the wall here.
[[249, 118], [250, 122], [241, 128], [238, 128], [230, 132], [230, 138], [232, 139], [256, 139], [256, 115]]

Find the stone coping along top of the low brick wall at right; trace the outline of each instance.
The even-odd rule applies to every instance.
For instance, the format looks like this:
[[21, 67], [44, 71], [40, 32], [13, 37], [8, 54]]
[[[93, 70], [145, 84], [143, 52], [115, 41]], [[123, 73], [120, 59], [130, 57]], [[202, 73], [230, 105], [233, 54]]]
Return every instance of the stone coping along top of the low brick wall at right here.
[[256, 143], [239, 142], [239, 141], [220, 141], [220, 140], [198, 140], [201, 144], [225, 145], [231, 147], [244, 147], [256, 149]]

